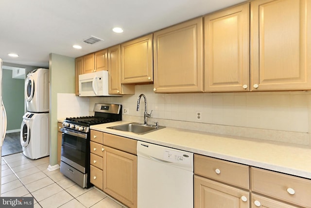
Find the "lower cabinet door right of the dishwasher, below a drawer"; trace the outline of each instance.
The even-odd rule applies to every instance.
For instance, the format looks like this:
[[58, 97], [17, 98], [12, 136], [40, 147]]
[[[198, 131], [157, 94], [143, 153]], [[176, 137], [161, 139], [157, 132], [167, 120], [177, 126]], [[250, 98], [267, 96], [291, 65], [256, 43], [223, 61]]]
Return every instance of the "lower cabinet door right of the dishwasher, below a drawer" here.
[[194, 175], [194, 208], [249, 208], [249, 192]]

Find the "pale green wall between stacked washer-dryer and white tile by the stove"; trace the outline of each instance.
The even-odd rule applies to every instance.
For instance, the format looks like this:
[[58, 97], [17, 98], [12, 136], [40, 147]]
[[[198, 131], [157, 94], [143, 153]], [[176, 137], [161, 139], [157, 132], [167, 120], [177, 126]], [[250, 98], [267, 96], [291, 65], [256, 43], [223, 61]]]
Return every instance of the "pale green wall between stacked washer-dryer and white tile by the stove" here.
[[57, 165], [57, 93], [75, 93], [74, 58], [50, 54], [50, 165]]

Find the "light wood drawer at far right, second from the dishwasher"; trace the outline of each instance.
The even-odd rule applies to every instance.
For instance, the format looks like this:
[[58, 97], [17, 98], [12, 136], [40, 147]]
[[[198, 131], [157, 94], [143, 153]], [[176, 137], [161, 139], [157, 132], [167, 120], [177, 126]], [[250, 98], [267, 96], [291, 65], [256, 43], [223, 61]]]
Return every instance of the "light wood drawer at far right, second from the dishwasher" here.
[[311, 208], [311, 180], [251, 168], [251, 187], [254, 192]]

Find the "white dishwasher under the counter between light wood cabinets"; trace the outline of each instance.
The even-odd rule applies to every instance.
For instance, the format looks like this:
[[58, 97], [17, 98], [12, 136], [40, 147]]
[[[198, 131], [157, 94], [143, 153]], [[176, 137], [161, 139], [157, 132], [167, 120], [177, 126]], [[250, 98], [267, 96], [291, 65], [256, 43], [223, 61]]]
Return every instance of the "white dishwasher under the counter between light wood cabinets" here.
[[193, 153], [137, 142], [138, 208], [193, 208]]

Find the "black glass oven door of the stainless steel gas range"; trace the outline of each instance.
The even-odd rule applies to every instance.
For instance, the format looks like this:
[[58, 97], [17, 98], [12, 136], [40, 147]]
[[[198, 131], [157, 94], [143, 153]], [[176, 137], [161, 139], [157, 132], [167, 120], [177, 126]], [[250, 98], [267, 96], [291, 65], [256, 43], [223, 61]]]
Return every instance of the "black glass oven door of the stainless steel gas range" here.
[[87, 171], [89, 157], [89, 139], [87, 133], [81, 133], [62, 128], [62, 151], [61, 161], [72, 166], [82, 173]]

